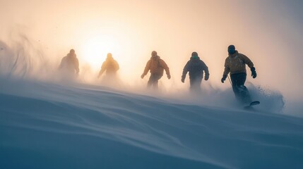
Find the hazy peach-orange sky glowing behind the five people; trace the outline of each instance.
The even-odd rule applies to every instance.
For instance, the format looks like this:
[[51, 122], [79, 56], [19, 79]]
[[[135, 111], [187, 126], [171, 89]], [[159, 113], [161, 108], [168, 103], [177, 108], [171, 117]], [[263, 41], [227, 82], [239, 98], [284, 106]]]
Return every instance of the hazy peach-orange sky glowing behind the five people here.
[[172, 72], [162, 82], [176, 87], [188, 87], [182, 69], [197, 51], [220, 88], [230, 87], [220, 79], [234, 44], [255, 64], [258, 77], [247, 82], [302, 98], [302, 8], [300, 0], [0, 0], [0, 40], [25, 35], [54, 65], [73, 48], [81, 73], [90, 65], [96, 74], [111, 52], [130, 84], [146, 82], [140, 75], [155, 50]]

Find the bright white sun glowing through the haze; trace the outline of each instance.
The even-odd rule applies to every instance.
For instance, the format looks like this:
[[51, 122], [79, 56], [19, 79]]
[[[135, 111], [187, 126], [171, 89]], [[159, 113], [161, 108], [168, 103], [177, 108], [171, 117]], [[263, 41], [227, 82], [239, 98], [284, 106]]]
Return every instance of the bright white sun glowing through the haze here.
[[100, 69], [108, 53], [115, 53], [117, 42], [112, 37], [91, 37], [83, 42], [81, 56], [85, 63], [90, 64], [93, 70]]

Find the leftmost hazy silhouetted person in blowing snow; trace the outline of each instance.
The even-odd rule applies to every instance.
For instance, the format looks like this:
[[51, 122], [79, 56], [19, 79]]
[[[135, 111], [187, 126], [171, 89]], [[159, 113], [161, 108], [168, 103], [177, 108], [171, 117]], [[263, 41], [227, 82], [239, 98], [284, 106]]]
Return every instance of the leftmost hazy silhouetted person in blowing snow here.
[[69, 54], [62, 58], [59, 69], [63, 70], [67, 75], [78, 75], [79, 61], [74, 49], [71, 49]]

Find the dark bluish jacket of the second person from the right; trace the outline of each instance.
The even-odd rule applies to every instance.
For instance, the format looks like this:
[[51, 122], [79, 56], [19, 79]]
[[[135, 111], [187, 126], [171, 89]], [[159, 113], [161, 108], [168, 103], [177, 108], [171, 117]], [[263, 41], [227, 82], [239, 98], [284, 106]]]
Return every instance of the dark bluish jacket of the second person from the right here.
[[201, 61], [199, 57], [191, 57], [191, 59], [186, 63], [183, 68], [182, 77], [185, 78], [186, 73], [189, 72], [190, 79], [195, 79], [196, 77], [203, 78], [203, 71], [205, 71], [206, 76], [209, 76], [208, 67], [206, 63]]

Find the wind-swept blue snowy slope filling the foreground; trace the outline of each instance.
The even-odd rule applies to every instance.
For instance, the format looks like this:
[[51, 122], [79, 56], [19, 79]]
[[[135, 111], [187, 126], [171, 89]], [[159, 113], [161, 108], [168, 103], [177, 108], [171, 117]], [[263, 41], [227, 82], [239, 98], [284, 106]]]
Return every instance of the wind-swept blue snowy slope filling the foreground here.
[[303, 168], [302, 118], [1, 81], [0, 168]]

